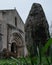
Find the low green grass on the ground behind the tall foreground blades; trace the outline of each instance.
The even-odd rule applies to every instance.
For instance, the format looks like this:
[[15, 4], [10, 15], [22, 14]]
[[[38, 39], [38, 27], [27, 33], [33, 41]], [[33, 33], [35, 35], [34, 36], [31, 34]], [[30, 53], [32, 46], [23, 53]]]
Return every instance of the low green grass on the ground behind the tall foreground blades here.
[[[50, 57], [48, 57], [48, 60], [50, 62]], [[40, 60], [38, 57], [34, 57], [33, 62], [34, 65], [39, 65]], [[0, 59], [0, 65], [31, 65], [31, 59], [30, 58]], [[42, 57], [42, 65], [49, 65], [46, 57]]]

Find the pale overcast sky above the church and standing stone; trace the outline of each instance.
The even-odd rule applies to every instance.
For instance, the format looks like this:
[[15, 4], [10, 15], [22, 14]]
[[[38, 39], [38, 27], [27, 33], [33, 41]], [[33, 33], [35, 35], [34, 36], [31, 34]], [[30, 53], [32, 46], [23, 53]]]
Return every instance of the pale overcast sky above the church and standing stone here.
[[16, 8], [25, 23], [33, 3], [40, 3], [42, 5], [50, 25], [52, 23], [52, 0], [0, 0], [0, 10]]

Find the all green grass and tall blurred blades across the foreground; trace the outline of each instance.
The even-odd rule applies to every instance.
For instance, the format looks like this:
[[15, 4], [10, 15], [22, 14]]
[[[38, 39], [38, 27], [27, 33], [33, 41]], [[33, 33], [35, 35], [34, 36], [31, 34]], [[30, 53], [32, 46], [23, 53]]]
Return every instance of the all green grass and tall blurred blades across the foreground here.
[[39, 49], [39, 55], [36, 57], [0, 59], [0, 65], [52, 65], [52, 49], [50, 48], [49, 56], [45, 55], [51, 45], [52, 38], [47, 41], [44, 47]]

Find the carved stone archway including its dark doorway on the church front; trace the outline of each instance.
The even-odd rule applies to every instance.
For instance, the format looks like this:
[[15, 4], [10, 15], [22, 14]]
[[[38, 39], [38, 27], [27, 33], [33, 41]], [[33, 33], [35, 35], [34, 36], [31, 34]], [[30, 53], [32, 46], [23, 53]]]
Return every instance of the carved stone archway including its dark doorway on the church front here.
[[11, 39], [11, 52], [16, 53], [17, 57], [24, 55], [23, 38], [18, 33], [13, 33]]

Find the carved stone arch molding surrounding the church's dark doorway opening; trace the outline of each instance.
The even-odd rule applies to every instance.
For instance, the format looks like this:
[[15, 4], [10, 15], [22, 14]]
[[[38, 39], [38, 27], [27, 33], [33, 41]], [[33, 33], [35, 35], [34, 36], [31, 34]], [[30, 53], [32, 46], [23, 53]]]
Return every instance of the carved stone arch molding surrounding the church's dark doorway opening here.
[[[11, 39], [10, 39], [10, 45], [9, 45], [9, 50], [11, 51], [11, 47], [12, 47], [12, 44], [15, 44], [16, 45], [16, 51], [14, 51], [14, 52], [16, 52], [17, 53], [17, 56], [22, 56], [22, 52], [23, 52], [23, 38], [22, 38], [22, 36], [19, 34], [19, 33], [13, 33], [12, 34], [12, 37], [11, 37]], [[14, 45], [14, 46], [15, 46]], [[14, 48], [15, 49], [15, 48]], [[13, 50], [14, 50], [13, 49]]]

